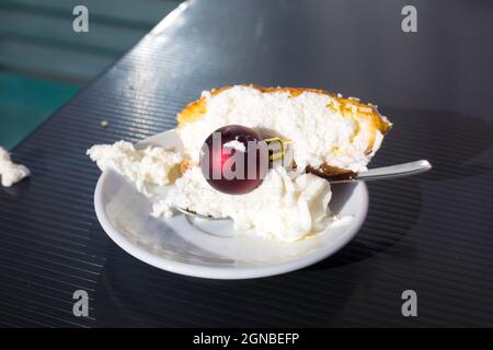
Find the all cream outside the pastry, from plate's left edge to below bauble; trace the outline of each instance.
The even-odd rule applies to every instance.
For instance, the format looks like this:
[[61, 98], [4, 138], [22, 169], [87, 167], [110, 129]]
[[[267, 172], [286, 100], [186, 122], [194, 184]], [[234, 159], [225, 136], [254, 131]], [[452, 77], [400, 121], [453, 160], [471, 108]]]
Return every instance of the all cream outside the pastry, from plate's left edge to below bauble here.
[[[130, 142], [96, 144], [87, 151], [104, 171], [112, 168], [135, 184], [153, 202], [153, 217], [170, 218], [180, 207], [204, 215], [231, 218], [241, 232], [266, 238], [295, 242], [323, 230], [330, 220], [331, 188], [312, 174], [287, 172], [280, 165], [268, 171], [262, 184], [246, 195], [217, 191], [200, 167], [192, 165], [180, 177], [183, 155], [159, 147], [137, 150]], [[171, 186], [159, 197], [148, 185]]]

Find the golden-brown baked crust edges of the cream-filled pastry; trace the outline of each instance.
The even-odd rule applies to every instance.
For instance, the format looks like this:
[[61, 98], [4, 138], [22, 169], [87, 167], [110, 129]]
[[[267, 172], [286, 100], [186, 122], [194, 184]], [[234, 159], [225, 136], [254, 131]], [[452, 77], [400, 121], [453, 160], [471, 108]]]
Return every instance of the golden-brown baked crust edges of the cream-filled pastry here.
[[[339, 112], [343, 117], [346, 117], [346, 118], [365, 119], [365, 120], [369, 121], [368, 125], [371, 130], [371, 138], [370, 138], [370, 141], [368, 142], [368, 149], [367, 149], [368, 153], [370, 153], [372, 151], [377, 130], [385, 135], [385, 133], [387, 133], [387, 131], [389, 131], [389, 129], [391, 127], [391, 124], [388, 122], [385, 118], [382, 118], [382, 116], [380, 115], [380, 113], [378, 112], [376, 106], [374, 106], [371, 104], [364, 104], [358, 98], [355, 98], [355, 97], [343, 97], [341, 95], [333, 94], [328, 91], [319, 90], [319, 89], [264, 88], [264, 86], [259, 86], [259, 85], [253, 85], [253, 84], [245, 85], [245, 86], [256, 89], [263, 93], [288, 92], [291, 97], [297, 97], [305, 92], [311, 92], [311, 93], [316, 93], [316, 94], [323, 94], [323, 95], [331, 96], [332, 100], [328, 104], [328, 106], [326, 106], [328, 108], [333, 109], [334, 112]], [[218, 95], [221, 92], [223, 92], [228, 89], [231, 89], [231, 88], [232, 86], [225, 86], [225, 88], [216, 89], [216, 90], [210, 91], [210, 93], [213, 95]], [[207, 112], [206, 97], [203, 96], [203, 97], [190, 103], [185, 108], [183, 108], [183, 110], [181, 110], [176, 115], [177, 128], [180, 129], [187, 124], [197, 121], [199, 118], [202, 118], [202, 116], [205, 115], [206, 112]], [[310, 168], [308, 168], [308, 170], [310, 170]], [[314, 171], [314, 170], [312, 170], [312, 171]], [[320, 166], [317, 170], [317, 173], [323, 174], [328, 177], [341, 176], [343, 174], [351, 175], [351, 171], [348, 171], [348, 170], [332, 167], [328, 164]]]

